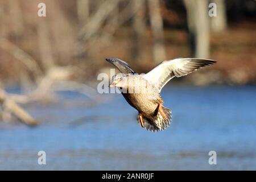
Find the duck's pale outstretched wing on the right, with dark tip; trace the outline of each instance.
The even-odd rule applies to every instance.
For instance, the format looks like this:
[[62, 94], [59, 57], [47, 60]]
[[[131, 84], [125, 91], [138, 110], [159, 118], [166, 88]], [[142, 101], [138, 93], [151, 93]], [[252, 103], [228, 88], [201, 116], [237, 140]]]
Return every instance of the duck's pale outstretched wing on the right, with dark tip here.
[[178, 58], [174, 60], [166, 60], [144, 75], [147, 81], [154, 84], [159, 92], [163, 86], [173, 77], [181, 77], [196, 71], [199, 68], [210, 64], [217, 63], [217, 61], [210, 59], [199, 58]]

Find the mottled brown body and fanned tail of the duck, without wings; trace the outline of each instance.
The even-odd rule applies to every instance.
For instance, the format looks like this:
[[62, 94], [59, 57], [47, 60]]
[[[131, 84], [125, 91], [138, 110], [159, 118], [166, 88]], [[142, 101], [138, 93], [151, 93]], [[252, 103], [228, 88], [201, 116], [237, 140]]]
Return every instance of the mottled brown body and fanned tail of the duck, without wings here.
[[[143, 127], [150, 131], [159, 131], [170, 126], [171, 111], [163, 107], [167, 119], [158, 112], [159, 105], [163, 104], [162, 97], [154, 85], [151, 85], [143, 76], [125, 76], [121, 87], [125, 100], [142, 115]], [[139, 121], [139, 118], [137, 120]]]

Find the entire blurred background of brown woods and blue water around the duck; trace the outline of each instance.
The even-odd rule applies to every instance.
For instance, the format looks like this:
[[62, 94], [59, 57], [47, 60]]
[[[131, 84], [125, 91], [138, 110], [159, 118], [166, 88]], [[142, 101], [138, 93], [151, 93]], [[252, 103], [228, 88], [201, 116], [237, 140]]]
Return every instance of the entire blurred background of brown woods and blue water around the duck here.
[[[256, 169], [256, 1], [10, 0], [0, 26], [0, 169]], [[173, 122], [150, 133], [98, 94], [105, 57], [218, 63], [167, 84]]]

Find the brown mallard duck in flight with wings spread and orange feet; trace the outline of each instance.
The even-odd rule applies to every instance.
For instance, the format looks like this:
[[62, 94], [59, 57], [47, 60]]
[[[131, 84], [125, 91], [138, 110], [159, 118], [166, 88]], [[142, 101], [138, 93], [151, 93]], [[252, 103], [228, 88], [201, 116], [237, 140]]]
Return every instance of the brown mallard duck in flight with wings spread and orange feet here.
[[[174, 77], [185, 76], [217, 63], [209, 59], [178, 58], [163, 61], [146, 75], [138, 75], [125, 61], [117, 58], [107, 58], [106, 61], [123, 73], [115, 75], [109, 86], [117, 86], [122, 90], [125, 100], [138, 110], [137, 121], [150, 131], [165, 130], [172, 121], [171, 110], [163, 106], [160, 96], [163, 86]], [[136, 89], [139, 92], [135, 92]]]

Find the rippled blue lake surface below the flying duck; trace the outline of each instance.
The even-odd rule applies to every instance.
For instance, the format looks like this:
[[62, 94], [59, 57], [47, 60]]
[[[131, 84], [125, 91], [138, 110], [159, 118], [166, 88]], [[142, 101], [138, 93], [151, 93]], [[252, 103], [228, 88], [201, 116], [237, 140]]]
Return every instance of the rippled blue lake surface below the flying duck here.
[[0, 169], [256, 170], [256, 86], [167, 86], [162, 96], [173, 121], [158, 133], [142, 129], [119, 94], [69, 105], [91, 101], [61, 92], [55, 104], [27, 105], [42, 124], [0, 122]]

